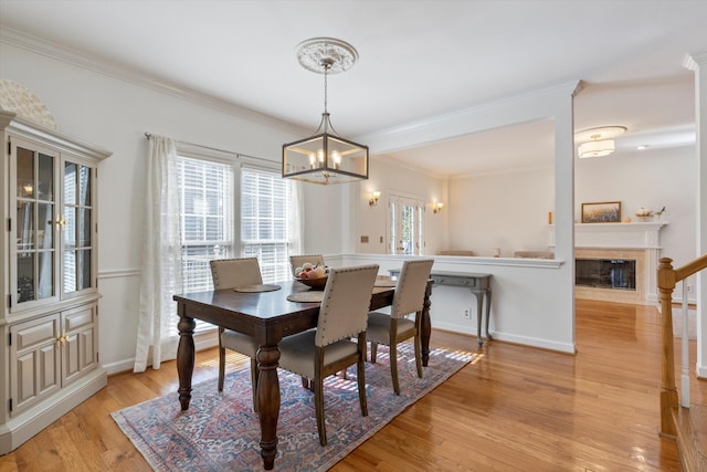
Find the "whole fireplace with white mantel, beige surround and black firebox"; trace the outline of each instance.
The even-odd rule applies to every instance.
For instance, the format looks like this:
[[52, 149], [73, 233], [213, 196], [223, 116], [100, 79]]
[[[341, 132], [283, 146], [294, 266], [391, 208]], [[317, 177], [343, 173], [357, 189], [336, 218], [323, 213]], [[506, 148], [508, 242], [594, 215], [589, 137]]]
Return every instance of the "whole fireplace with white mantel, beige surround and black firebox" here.
[[[574, 224], [574, 296], [620, 303], [656, 302], [659, 231], [665, 224]], [[555, 249], [555, 227], [550, 234], [549, 245]]]

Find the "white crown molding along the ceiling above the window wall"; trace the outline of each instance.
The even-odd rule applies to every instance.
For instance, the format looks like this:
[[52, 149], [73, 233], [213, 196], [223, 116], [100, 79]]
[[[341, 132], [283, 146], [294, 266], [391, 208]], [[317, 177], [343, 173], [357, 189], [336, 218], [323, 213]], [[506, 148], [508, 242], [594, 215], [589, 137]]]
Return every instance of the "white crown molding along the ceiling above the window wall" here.
[[167, 81], [157, 75], [146, 74], [145, 72], [133, 69], [128, 65], [117, 62], [106, 61], [96, 55], [86, 54], [75, 49], [66, 46], [57, 46], [56, 44], [44, 39], [27, 34], [22, 31], [7, 27], [0, 27], [0, 43], [14, 45], [35, 54], [64, 62], [77, 67], [86, 69], [102, 75], [128, 82], [144, 88], [163, 93], [197, 105], [224, 112], [229, 115], [244, 118], [261, 125], [275, 127], [286, 133], [300, 135], [310, 132], [302, 126], [294, 125], [289, 122], [275, 118], [261, 112], [236, 105], [232, 102], [217, 98], [212, 95], [197, 92], [189, 87], [184, 87], [175, 82]]

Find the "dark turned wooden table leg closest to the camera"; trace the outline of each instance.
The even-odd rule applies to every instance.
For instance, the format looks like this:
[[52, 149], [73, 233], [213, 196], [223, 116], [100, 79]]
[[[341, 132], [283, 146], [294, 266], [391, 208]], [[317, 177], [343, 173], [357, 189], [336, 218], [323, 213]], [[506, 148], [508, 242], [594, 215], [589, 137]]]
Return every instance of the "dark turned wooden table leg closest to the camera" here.
[[279, 416], [279, 379], [277, 346], [261, 346], [257, 350], [257, 408], [261, 420], [261, 457], [263, 468], [272, 470], [277, 454], [277, 417]]

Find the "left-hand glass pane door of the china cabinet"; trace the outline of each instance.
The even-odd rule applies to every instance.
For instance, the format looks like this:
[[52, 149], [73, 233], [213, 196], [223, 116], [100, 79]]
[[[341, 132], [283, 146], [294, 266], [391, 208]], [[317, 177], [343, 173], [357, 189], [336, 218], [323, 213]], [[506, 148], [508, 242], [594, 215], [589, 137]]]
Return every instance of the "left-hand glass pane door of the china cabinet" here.
[[56, 295], [54, 219], [56, 211], [52, 155], [15, 147], [17, 303]]

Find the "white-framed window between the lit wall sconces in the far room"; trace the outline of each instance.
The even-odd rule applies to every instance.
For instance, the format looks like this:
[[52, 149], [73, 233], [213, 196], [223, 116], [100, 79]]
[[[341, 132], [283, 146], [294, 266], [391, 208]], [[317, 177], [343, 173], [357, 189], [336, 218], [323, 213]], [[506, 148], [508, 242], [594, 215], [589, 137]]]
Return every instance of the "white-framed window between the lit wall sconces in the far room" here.
[[424, 202], [391, 195], [388, 213], [388, 253], [424, 254]]

